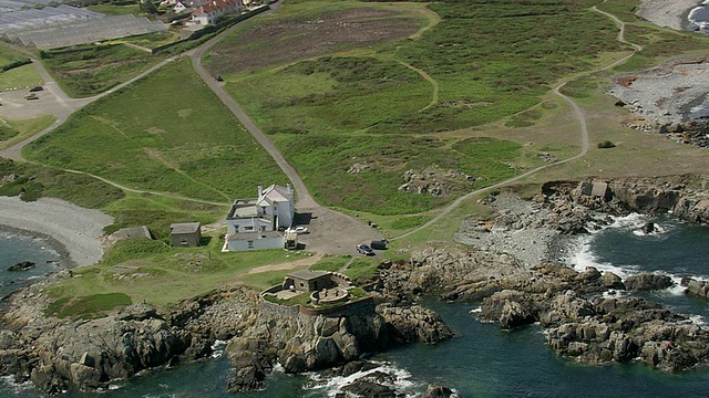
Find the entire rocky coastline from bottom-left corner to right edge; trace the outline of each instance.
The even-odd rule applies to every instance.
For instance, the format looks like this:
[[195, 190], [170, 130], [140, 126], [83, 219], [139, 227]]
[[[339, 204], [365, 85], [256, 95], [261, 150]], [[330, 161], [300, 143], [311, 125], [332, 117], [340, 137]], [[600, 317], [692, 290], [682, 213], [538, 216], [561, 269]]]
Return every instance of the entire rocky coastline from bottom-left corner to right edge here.
[[[360, 358], [400, 344], [453, 337], [438, 314], [414, 304], [432, 294], [480, 302], [477, 316], [503, 328], [538, 323], [552, 349], [582, 363], [643, 360], [658, 369], [686, 369], [709, 360], [709, 332], [661, 305], [613, 294], [665, 289], [671, 280], [655, 274], [623, 280], [592, 268], [579, 272], [564, 259], [575, 235], [604, 228], [612, 214], [671, 211], [708, 222], [707, 182], [691, 176], [555, 181], [527, 199], [513, 190], [494, 192], [483, 200], [493, 216], [463, 220], [456, 235], [461, 244], [383, 263], [376, 277], [363, 281], [374, 297], [376, 311], [369, 313], [264, 313], [258, 293], [234, 287], [185, 301], [168, 313], [135, 304], [103, 318], [59, 320], [44, 314], [50, 302], [44, 290], [72, 277], [62, 271], [7, 297], [0, 374], [31, 380], [50, 394], [101, 390], [144, 369], [208, 357], [220, 341], [228, 342], [234, 367], [225, 387], [230, 391], [263, 388], [266, 375], [280, 366], [286, 373], [359, 371], [362, 376], [341, 396], [387, 396], [387, 375]], [[705, 281], [682, 284], [690, 294], [709, 292]], [[453, 394], [440, 386], [430, 391], [427, 397]]]

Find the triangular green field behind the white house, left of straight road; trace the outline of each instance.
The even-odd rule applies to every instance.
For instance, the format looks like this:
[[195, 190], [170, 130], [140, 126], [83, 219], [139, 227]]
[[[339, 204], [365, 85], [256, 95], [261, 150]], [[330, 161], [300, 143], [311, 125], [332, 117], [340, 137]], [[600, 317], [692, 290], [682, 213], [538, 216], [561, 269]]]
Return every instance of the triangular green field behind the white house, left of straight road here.
[[188, 60], [83, 108], [24, 153], [131, 188], [227, 203], [259, 182], [286, 182]]

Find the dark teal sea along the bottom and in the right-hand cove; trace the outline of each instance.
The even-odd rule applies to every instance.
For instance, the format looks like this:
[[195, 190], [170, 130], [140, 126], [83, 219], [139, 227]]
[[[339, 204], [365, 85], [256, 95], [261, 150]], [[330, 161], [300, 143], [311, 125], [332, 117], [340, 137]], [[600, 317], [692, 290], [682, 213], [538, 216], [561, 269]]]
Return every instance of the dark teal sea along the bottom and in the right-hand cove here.
[[[661, 271], [680, 277], [709, 276], [709, 228], [688, 226], [660, 218], [661, 232], [643, 235], [638, 229], [647, 219], [639, 216], [619, 220], [614, 227], [584, 239], [574, 258], [578, 268], [587, 265], [633, 274]], [[1, 239], [1, 238], [0, 238]], [[649, 298], [709, 318], [707, 301], [680, 294], [679, 289], [654, 293]], [[458, 336], [439, 345], [411, 345], [378, 355], [398, 377], [397, 386], [409, 397], [421, 396], [429, 383], [456, 389], [459, 397], [707, 397], [709, 368], [667, 374], [643, 364], [584, 366], [556, 356], [546, 347], [540, 327], [503, 332], [495, 324], [479, 322], [471, 311], [479, 304], [425, 303], [453, 328]], [[264, 391], [229, 395], [229, 374], [224, 357], [147, 373], [101, 397], [332, 397], [347, 379], [318, 381], [317, 375], [288, 376], [276, 371]], [[40, 397], [30, 386], [0, 385], [0, 397]], [[95, 397], [69, 392], [68, 397]]]

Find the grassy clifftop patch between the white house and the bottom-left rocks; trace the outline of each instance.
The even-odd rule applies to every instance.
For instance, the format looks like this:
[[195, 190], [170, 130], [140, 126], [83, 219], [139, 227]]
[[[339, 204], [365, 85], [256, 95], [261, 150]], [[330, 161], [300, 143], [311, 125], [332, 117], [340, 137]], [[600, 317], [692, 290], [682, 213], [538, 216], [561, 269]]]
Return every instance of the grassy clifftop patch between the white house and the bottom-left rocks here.
[[[217, 245], [172, 249], [161, 241], [133, 238], [119, 242], [99, 264], [74, 270], [74, 277], [48, 292], [59, 302], [54, 307], [72, 297], [120, 293], [133, 303], [145, 302], [165, 310], [183, 298], [243, 283], [255, 266], [291, 260], [294, 253], [282, 250], [220, 253]], [[76, 310], [71, 315], [107, 310]]]

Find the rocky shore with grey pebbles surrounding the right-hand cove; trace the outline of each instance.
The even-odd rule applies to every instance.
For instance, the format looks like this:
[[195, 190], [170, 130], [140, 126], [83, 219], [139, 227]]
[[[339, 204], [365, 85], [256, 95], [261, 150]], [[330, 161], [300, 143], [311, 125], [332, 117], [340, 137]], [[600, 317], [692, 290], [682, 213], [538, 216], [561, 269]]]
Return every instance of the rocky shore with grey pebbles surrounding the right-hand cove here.
[[[484, 201], [494, 216], [463, 222], [458, 240], [465, 247], [413, 253], [410, 262], [382, 270], [372, 287], [402, 301], [435, 294], [481, 302], [482, 320], [506, 329], [538, 323], [552, 349], [585, 364], [641, 360], [672, 371], [709, 362], [709, 331], [659, 304], [616, 294], [662, 290], [671, 279], [643, 273], [623, 280], [563, 262], [565, 242], [604, 228], [610, 214], [672, 212], [707, 223], [706, 178], [556, 181], [530, 200], [503, 191]], [[682, 284], [688, 294], [706, 297], [709, 291], [703, 281]]]

